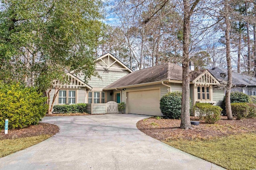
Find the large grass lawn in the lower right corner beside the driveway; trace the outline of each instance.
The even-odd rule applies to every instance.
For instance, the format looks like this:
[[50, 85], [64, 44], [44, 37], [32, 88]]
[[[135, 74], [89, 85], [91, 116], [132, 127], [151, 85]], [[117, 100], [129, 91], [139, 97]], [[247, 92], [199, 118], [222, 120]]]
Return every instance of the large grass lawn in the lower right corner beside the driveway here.
[[256, 169], [256, 134], [254, 133], [210, 140], [164, 142], [226, 169]]

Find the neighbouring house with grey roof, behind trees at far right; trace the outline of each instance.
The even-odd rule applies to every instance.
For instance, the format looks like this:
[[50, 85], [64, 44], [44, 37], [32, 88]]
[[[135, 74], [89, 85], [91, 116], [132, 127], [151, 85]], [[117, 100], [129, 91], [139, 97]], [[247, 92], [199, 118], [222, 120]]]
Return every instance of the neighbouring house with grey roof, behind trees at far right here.
[[[228, 71], [226, 68], [215, 67], [209, 70], [221, 84], [228, 81]], [[231, 92], [243, 92], [250, 96], [256, 96], [256, 78], [232, 71]]]

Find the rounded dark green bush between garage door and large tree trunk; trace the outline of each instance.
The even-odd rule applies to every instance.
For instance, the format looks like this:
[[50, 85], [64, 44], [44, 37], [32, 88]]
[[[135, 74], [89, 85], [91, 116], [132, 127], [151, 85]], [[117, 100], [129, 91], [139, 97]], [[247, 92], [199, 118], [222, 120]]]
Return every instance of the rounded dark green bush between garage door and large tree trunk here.
[[180, 119], [182, 92], [169, 92], [160, 100], [160, 110], [170, 119]]

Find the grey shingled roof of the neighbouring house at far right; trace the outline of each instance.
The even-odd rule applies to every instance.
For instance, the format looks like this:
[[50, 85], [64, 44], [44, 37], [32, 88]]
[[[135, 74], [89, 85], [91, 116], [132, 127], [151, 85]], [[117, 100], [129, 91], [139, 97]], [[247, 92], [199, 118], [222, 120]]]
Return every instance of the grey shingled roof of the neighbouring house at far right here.
[[[228, 81], [228, 71], [226, 68], [215, 67], [209, 70], [209, 72], [220, 83], [225, 84]], [[256, 86], [256, 78], [232, 71], [232, 84], [235, 86]]]

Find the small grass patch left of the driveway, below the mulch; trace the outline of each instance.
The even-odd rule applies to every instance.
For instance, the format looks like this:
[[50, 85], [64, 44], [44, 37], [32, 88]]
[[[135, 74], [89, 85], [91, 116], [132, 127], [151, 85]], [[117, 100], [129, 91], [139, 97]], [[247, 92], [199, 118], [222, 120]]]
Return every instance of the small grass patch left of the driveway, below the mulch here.
[[0, 158], [26, 149], [51, 137], [51, 135], [40, 135], [35, 137], [24, 137], [18, 139], [4, 139], [0, 141]]

